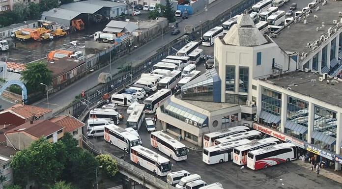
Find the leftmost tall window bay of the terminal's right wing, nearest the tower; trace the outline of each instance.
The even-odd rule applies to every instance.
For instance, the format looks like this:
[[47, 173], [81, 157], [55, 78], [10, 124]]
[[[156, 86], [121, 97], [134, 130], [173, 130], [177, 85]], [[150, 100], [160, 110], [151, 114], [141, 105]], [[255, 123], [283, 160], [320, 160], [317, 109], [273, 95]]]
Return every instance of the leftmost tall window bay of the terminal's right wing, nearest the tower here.
[[261, 104], [261, 111], [266, 111], [273, 115], [280, 115], [282, 109], [282, 94], [262, 87]]

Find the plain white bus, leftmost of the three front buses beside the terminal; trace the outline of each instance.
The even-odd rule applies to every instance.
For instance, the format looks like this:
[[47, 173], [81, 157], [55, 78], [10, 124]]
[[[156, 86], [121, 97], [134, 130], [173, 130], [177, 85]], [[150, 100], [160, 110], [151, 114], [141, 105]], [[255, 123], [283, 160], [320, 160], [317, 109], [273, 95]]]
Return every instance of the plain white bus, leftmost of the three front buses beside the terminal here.
[[232, 160], [233, 149], [235, 147], [245, 145], [250, 142], [251, 140], [242, 139], [233, 142], [227, 142], [217, 146], [203, 148], [202, 161], [206, 164], [228, 162]]

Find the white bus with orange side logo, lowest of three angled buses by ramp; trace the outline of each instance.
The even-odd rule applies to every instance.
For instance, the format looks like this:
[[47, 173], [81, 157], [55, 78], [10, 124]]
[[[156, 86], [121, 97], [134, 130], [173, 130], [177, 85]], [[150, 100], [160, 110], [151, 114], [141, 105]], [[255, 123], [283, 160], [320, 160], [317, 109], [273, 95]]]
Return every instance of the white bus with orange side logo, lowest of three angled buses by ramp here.
[[141, 145], [131, 148], [131, 161], [162, 177], [171, 173], [170, 160]]

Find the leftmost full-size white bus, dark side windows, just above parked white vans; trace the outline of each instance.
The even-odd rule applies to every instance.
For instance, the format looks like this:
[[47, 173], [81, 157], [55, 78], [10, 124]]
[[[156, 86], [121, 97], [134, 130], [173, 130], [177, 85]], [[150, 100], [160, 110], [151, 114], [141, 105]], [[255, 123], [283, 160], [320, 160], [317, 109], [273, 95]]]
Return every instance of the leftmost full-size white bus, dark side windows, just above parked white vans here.
[[114, 109], [95, 108], [89, 111], [89, 119], [106, 119], [109, 123], [119, 124], [119, 113]]

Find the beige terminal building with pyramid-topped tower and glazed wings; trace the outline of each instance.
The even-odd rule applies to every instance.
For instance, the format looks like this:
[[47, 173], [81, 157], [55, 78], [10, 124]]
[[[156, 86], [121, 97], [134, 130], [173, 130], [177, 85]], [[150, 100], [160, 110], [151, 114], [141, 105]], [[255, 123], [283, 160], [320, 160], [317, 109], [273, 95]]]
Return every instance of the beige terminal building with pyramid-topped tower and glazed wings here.
[[207, 133], [246, 125], [341, 170], [341, 3], [316, 4], [270, 36], [243, 14], [215, 39], [215, 69], [158, 108], [163, 129], [202, 146]]

